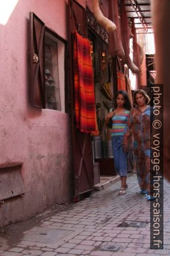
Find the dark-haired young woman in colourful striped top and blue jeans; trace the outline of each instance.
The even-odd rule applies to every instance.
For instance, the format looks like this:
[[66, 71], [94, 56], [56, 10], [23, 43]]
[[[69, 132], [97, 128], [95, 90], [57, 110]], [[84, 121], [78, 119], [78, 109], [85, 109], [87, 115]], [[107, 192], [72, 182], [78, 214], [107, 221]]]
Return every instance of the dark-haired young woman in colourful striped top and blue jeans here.
[[123, 149], [123, 137], [127, 132], [127, 118], [131, 109], [126, 91], [115, 94], [114, 109], [107, 114], [105, 124], [112, 120], [111, 142], [113, 148], [114, 165], [121, 176], [121, 190], [119, 195], [126, 194], [127, 189], [127, 152]]

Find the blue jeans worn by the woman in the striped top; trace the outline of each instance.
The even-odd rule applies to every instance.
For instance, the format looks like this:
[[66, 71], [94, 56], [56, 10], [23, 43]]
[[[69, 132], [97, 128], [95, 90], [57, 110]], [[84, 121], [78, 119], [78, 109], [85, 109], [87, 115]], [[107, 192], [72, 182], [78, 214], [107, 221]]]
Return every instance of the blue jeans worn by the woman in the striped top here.
[[113, 149], [115, 169], [120, 176], [127, 176], [128, 153], [123, 150], [123, 137], [124, 136], [112, 136], [111, 144]]

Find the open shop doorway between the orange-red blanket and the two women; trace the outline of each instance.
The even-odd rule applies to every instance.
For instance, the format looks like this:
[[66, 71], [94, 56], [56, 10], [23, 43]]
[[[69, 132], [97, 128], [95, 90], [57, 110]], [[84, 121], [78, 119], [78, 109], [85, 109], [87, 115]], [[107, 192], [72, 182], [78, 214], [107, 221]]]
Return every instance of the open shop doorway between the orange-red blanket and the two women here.
[[[93, 14], [86, 9], [88, 21]], [[91, 24], [91, 23], [90, 23]], [[99, 29], [99, 26], [98, 26]], [[113, 85], [115, 86], [115, 60], [109, 58], [108, 34], [103, 28], [98, 32], [88, 26], [88, 38], [92, 42], [92, 61], [94, 66], [94, 87], [99, 136], [93, 137], [94, 185], [107, 183], [117, 175], [114, 168], [111, 146], [111, 130], [105, 127], [105, 117], [113, 108]], [[98, 186], [98, 185], [97, 185]]]

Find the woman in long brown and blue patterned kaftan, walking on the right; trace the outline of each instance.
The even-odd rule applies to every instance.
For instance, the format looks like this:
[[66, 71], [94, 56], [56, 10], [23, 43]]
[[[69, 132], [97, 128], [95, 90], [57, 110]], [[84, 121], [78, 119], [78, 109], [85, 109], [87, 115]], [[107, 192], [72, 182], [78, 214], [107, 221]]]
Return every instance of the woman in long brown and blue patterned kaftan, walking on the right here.
[[[142, 194], [148, 200], [154, 200], [150, 193], [150, 97], [143, 90], [134, 92], [135, 108], [130, 110], [127, 121], [127, 133], [124, 137], [125, 151], [129, 148], [133, 136], [133, 151], [136, 161], [138, 183]], [[132, 135], [132, 136], [131, 136]]]

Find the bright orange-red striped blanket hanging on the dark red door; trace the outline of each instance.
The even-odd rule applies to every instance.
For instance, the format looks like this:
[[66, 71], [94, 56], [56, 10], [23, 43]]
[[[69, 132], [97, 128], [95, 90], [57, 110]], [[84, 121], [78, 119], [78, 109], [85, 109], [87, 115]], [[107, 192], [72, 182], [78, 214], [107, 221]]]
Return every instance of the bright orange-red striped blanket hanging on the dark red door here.
[[98, 134], [90, 41], [74, 34], [74, 101], [76, 128]]

